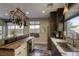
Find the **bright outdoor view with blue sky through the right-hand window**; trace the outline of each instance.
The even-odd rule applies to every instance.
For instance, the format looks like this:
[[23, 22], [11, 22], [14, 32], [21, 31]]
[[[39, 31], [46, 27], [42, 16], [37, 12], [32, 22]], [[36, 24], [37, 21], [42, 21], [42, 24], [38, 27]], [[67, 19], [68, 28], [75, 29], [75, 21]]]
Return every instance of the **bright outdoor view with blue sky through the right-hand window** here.
[[79, 34], [79, 16], [67, 21], [67, 30], [69, 37], [76, 37], [76, 34]]

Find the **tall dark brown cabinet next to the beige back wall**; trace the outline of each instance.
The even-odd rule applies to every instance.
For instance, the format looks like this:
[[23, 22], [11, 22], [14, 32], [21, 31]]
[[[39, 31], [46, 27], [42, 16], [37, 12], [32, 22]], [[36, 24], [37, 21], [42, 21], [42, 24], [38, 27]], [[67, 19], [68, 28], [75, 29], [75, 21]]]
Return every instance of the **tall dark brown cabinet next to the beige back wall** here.
[[57, 31], [57, 12], [50, 12], [50, 36], [54, 37], [53, 32]]

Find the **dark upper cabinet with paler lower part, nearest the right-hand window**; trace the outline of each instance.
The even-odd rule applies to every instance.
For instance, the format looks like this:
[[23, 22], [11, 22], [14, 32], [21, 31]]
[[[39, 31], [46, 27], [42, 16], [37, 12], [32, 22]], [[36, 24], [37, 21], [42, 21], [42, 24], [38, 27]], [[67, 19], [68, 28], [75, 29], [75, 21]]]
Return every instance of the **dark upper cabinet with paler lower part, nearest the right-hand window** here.
[[57, 10], [57, 31], [64, 31], [64, 8], [58, 8]]

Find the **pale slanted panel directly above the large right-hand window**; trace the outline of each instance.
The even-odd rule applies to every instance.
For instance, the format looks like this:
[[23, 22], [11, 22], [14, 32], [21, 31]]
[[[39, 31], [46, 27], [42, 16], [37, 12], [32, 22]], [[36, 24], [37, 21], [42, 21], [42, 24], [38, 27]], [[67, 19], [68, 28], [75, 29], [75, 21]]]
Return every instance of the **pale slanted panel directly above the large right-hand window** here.
[[69, 20], [77, 15], [79, 15], [79, 4], [73, 4], [65, 14], [65, 20]]

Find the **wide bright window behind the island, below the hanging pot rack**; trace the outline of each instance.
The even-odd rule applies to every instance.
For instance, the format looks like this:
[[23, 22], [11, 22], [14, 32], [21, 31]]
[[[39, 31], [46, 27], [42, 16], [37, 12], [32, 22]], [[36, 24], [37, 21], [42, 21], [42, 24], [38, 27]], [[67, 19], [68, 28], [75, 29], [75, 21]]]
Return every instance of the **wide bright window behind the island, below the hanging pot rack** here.
[[19, 25], [8, 23], [8, 37], [12, 37], [13, 35], [19, 36], [23, 35], [23, 26], [20, 28]]

